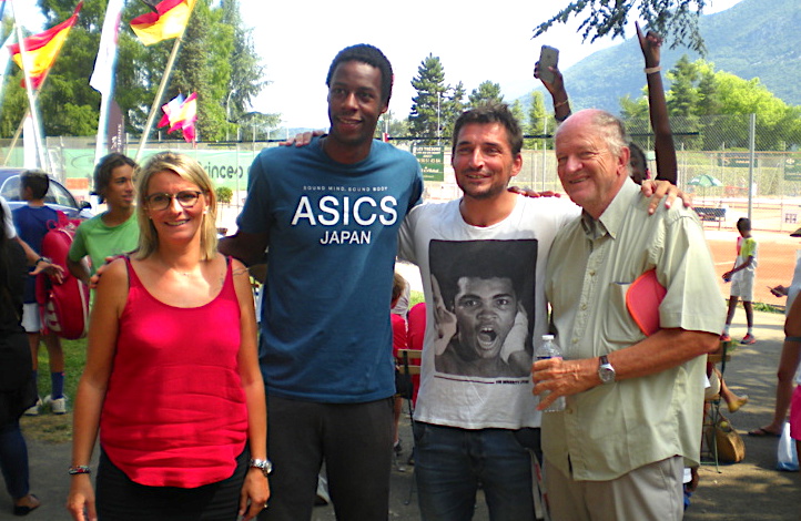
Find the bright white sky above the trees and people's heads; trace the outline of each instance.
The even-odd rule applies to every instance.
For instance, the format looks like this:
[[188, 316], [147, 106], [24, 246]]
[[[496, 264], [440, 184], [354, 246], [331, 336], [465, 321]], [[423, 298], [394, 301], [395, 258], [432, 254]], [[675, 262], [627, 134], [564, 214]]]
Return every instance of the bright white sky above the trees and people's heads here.
[[[707, 0], [704, 13], [722, 11], [741, 0]], [[33, 0], [13, 0], [26, 28], [42, 29]], [[587, 55], [621, 43], [606, 38], [590, 44], [578, 23], [556, 24], [531, 39], [534, 28], [569, 0], [402, 0], [399, 2], [300, 2], [240, 0], [242, 18], [254, 28], [256, 52], [267, 85], [253, 110], [281, 113], [282, 126], [327, 129], [325, 75], [336, 53], [354, 43], [371, 43], [393, 64], [395, 86], [389, 111], [408, 116], [415, 90], [410, 82], [423, 60], [439, 57], [445, 83], [462, 81], [467, 93], [489, 80], [513, 101], [541, 83], [533, 76], [543, 44], [560, 50], [564, 71]], [[626, 37], [633, 37], [633, 24]]]

